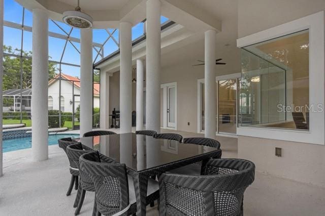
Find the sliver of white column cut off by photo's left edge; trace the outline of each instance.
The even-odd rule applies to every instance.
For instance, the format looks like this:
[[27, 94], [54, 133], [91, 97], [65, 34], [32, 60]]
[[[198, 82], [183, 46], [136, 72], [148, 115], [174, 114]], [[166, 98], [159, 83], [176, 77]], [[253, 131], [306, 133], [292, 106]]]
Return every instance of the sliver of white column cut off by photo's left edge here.
[[[4, 0], [0, 0], [0, 119], [3, 114], [3, 98], [2, 98], [2, 81], [3, 81], [3, 45], [4, 45]], [[0, 177], [2, 176], [2, 161], [3, 161], [3, 150], [2, 150], [2, 123], [0, 124]]]

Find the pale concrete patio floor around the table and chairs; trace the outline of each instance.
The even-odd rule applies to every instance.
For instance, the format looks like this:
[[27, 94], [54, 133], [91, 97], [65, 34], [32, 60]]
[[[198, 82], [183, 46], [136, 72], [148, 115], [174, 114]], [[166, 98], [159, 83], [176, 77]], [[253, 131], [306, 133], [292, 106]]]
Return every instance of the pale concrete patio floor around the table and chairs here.
[[[217, 139], [223, 157], [237, 156], [236, 138]], [[31, 161], [31, 149], [4, 153], [0, 215], [74, 215], [72, 206], [76, 191], [66, 196], [70, 182], [68, 167], [67, 156], [57, 145], [49, 146], [49, 159], [41, 162]], [[91, 215], [93, 195], [86, 193], [80, 215]], [[325, 215], [324, 195], [325, 188], [256, 172], [254, 183], [245, 192], [244, 214]], [[148, 207], [147, 215], [158, 215], [156, 206]]]

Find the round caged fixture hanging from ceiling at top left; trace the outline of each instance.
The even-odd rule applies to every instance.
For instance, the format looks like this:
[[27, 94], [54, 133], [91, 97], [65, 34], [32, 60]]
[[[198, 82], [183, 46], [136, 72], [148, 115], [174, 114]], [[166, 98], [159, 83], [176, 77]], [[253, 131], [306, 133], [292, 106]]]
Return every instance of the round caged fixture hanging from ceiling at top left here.
[[88, 14], [81, 12], [81, 8], [78, 6], [74, 11], [63, 12], [63, 22], [75, 28], [91, 28], [92, 17]]

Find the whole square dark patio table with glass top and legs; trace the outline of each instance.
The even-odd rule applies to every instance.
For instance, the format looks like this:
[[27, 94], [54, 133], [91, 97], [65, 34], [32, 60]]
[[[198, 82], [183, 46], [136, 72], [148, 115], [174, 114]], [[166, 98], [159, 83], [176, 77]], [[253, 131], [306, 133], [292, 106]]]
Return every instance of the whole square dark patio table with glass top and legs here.
[[115, 162], [125, 163], [127, 174], [133, 178], [137, 215], [143, 216], [146, 215], [146, 205], [150, 202], [147, 200], [148, 178], [199, 161], [202, 161], [201, 170], [204, 170], [210, 158], [221, 157], [221, 150], [217, 148], [134, 133], [84, 137], [79, 142], [84, 148], [98, 150]]

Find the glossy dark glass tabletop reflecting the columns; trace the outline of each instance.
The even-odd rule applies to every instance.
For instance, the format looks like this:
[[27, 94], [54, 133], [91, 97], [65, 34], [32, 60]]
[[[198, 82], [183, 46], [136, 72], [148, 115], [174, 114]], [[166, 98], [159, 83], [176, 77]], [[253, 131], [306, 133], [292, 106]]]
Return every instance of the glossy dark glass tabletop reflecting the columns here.
[[134, 133], [84, 137], [80, 142], [135, 171], [142, 171], [218, 149]]

